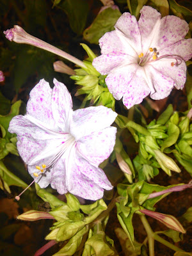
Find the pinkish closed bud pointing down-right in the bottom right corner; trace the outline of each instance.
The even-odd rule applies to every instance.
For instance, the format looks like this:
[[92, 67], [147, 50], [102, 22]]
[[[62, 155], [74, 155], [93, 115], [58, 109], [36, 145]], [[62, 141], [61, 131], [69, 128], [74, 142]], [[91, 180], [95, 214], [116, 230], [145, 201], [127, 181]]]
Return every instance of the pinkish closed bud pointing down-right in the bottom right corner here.
[[186, 230], [184, 230], [180, 222], [172, 215], [167, 215], [160, 212], [153, 212], [147, 209], [140, 210], [140, 212], [160, 221], [168, 228], [171, 228], [182, 233], [186, 233]]

